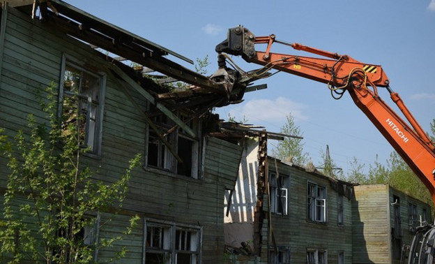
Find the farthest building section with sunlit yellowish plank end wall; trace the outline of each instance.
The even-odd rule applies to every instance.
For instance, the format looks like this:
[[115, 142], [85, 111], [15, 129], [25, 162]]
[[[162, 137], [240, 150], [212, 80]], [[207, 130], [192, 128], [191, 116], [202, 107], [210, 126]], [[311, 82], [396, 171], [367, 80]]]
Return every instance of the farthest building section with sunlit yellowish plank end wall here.
[[354, 190], [353, 263], [400, 263], [415, 227], [432, 223], [431, 207], [387, 184]]

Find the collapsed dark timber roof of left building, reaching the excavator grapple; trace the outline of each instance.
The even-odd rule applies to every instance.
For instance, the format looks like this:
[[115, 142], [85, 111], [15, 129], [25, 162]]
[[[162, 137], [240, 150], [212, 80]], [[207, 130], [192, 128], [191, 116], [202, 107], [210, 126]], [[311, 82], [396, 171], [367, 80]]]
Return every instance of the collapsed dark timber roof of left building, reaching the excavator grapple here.
[[[167, 59], [167, 55], [191, 64], [192, 60], [84, 10], [60, 0], [7, 2], [32, 17], [36, 17], [39, 10], [38, 18], [50, 27], [93, 47], [113, 64], [114, 75], [129, 84], [135, 83], [134, 88], [142, 90], [140, 93], [146, 94], [146, 99], [153, 105], [160, 105], [159, 110], [165, 109], [166, 112], [162, 110], [165, 115], [187, 110], [200, 117], [212, 108], [232, 103], [224, 85]], [[157, 72], [158, 78], [148, 74], [149, 69]], [[168, 82], [182, 82], [183, 86], [178, 89], [177, 85], [167, 85]]]

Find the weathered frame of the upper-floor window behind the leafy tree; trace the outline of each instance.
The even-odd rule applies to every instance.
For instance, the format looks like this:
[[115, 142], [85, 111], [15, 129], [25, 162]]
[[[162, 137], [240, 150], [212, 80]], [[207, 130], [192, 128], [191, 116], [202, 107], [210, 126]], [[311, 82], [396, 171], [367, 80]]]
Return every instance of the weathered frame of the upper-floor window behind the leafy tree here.
[[[104, 105], [105, 105], [105, 87], [106, 87], [106, 73], [102, 73], [100, 71], [96, 71], [91, 69], [89, 66], [84, 66], [82, 61], [76, 59], [74, 57], [70, 57], [68, 54], [62, 54], [62, 62], [61, 62], [61, 76], [59, 82], [59, 106], [58, 106], [58, 118], [62, 117], [62, 109], [63, 109], [63, 100], [66, 96], [70, 97], [73, 94], [65, 91], [65, 73], [66, 68], [71, 67], [75, 68], [77, 71], [80, 71], [81, 74], [86, 73], [87, 75], [92, 75], [94, 78], [98, 79], [99, 82], [99, 91], [98, 91], [98, 100], [94, 100], [90, 96], [86, 96], [84, 94], [79, 97], [82, 99], [86, 99], [86, 103], [96, 104], [96, 109], [92, 111], [92, 107], [87, 106], [86, 110], [86, 121], [85, 121], [85, 145], [83, 147], [88, 147], [89, 151], [85, 153], [86, 156], [100, 157], [101, 156], [101, 143], [102, 143], [102, 119], [104, 113]], [[86, 98], [84, 98], [84, 96]], [[78, 103], [80, 105], [80, 103]], [[91, 122], [93, 120], [93, 122]], [[93, 123], [92, 126], [89, 124]]]

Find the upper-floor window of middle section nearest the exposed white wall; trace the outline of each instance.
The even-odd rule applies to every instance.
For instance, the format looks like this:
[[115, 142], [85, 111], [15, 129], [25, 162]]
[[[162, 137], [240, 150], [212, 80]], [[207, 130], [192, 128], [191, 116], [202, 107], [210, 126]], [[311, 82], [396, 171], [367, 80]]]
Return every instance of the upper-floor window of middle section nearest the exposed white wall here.
[[269, 173], [270, 212], [287, 215], [289, 207], [289, 176]]

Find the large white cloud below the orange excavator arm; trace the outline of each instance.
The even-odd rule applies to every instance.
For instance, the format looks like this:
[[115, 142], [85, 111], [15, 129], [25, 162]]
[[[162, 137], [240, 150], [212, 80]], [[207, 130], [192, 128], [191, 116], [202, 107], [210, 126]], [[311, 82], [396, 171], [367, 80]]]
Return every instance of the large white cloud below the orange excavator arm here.
[[275, 100], [254, 99], [236, 106], [229, 111], [229, 115], [235, 117], [236, 121], [241, 121], [245, 117], [250, 124], [263, 125], [265, 122], [283, 124], [289, 113], [296, 120], [307, 120], [308, 117], [303, 114], [303, 108], [305, 105], [284, 97], [278, 97]]

